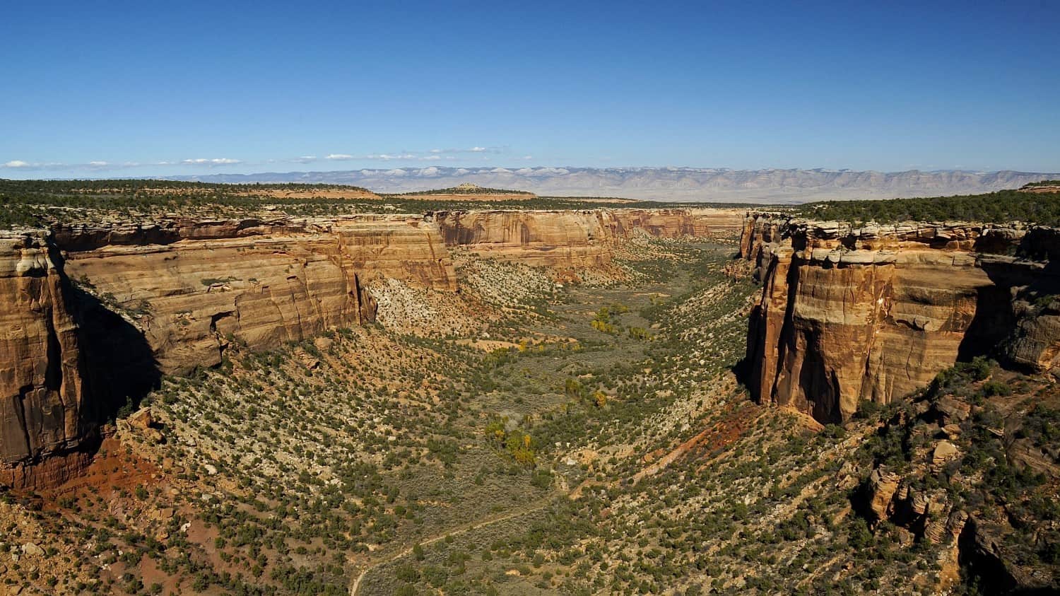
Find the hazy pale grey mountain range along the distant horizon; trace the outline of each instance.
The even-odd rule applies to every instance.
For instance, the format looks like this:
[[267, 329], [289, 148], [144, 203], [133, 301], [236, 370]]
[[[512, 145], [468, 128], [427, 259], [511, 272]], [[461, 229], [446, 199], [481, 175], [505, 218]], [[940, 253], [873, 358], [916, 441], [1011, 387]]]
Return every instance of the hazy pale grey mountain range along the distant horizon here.
[[473, 182], [540, 195], [621, 196], [657, 200], [806, 203], [972, 194], [1019, 188], [1060, 174], [1031, 172], [855, 172], [716, 168], [403, 168], [344, 172], [212, 174], [173, 179], [204, 182], [326, 182], [376, 192], [409, 192]]

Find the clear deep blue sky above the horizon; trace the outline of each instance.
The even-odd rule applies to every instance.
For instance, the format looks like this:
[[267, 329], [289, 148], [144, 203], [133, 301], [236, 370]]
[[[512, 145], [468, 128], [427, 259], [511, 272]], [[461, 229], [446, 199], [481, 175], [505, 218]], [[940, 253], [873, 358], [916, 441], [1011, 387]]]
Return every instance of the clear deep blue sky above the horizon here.
[[2, 13], [0, 177], [1060, 171], [1057, 0], [34, 1]]

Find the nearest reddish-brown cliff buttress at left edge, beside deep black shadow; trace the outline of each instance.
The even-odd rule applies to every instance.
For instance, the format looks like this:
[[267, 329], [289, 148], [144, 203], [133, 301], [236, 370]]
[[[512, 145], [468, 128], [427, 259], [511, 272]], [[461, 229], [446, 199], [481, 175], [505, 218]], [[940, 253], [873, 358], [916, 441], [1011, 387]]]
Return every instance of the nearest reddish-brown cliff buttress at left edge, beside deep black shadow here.
[[[0, 233], [0, 463], [81, 446], [92, 430], [81, 329], [47, 234]], [[24, 484], [22, 466], [0, 483]]]

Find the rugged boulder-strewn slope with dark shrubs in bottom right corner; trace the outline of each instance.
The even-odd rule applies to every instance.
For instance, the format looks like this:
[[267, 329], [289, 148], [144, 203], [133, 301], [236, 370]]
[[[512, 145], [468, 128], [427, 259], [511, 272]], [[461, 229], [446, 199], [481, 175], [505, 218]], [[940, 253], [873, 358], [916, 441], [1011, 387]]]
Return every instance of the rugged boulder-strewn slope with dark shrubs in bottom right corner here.
[[947, 573], [959, 562], [968, 593], [1056, 593], [1058, 406], [1050, 376], [960, 363], [881, 413], [855, 456], [872, 472], [854, 504], [877, 533], [948, 548]]

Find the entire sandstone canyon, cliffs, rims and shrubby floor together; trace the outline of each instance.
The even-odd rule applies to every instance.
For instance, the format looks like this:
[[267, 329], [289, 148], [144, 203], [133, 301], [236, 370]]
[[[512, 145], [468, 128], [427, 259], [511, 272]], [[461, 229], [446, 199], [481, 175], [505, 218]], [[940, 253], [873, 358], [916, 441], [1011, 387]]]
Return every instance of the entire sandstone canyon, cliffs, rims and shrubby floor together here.
[[1055, 228], [32, 188], [25, 593], [1056, 583]]

